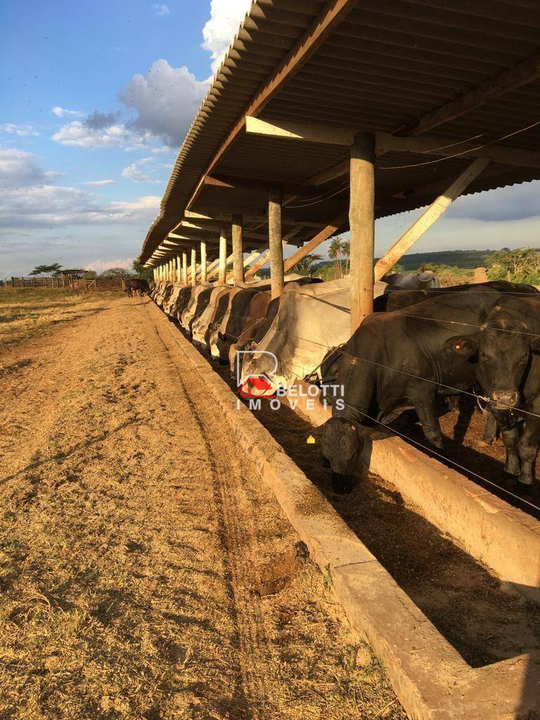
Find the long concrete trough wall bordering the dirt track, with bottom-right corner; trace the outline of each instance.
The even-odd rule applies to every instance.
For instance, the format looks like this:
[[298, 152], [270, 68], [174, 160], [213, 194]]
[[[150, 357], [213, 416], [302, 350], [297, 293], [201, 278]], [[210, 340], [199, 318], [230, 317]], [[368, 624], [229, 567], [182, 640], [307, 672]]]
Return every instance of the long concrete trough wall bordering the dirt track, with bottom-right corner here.
[[242, 403], [237, 405], [228, 385], [196, 348], [176, 329], [169, 326], [169, 330], [328, 578], [351, 625], [383, 663], [410, 719], [526, 720], [536, 716], [540, 712], [540, 652], [479, 669], [469, 667], [266, 428]]

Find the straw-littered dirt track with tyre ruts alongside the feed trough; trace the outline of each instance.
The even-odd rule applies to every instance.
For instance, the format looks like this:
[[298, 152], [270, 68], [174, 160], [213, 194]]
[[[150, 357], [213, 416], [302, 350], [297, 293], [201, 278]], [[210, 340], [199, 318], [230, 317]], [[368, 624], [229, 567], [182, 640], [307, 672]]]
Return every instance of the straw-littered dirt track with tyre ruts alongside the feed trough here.
[[0, 717], [405, 717], [148, 300], [0, 358]]

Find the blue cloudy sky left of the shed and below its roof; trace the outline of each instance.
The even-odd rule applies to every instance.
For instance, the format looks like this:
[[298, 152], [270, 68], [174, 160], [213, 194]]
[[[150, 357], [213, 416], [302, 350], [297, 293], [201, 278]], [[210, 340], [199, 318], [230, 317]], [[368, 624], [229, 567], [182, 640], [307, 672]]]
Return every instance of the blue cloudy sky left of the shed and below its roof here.
[[[249, 4], [4, 0], [1, 276], [54, 261], [102, 270], [138, 255]], [[538, 190], [459, 199], [415, 250], [538, 245]], [[414, 216], [377, 222], [377, 251]]]

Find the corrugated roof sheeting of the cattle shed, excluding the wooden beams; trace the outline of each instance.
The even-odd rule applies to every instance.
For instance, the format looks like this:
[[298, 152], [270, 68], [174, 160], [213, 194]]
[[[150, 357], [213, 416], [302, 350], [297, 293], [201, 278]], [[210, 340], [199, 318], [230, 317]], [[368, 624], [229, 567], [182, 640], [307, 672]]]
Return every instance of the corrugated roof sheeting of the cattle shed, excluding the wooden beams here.
[[[145, 238], [143, 261], [181, 220], [206, 169], [269, 75], [320, 12], [333, 4], [323, 0], [253, 2], [176, 159], [160, 215]], [[258, 117], [402, 134], [427, 112], [540, 50], [540, 6], [527, 0], [384, 0], [377, 4], [357, 0], [351, 6], [322, 45], [271, 94]], [[540, 81], [534, 80], [455, 117], [433, 133], [453, 140], [480, 136], [481, 143], [492, 142], [537, 122], [539, 101]], [[537, 126], [507, 138], [504, 145], [536, 150], [539, 140]], [[348, 149], [339, 146], [240, 133], [212, 172], [306, 183], [347, 157]], [[430, 202], [429, 194], [414, 194], [411, 189], [451, 178], [470, 162], [465, 156], [414, 168], [383, 169], [425, 160], [423, 155], [393, 152], [377, 160], [377, 215]], [[467, 192], [538, 177], [536, 169], [492, 166]], [[284, 217], [330, 222], [348, 204], [347, 193], [340, 192], [344, 181], [337, 179], [315, 191], [315, 197], [332, 195], [328, 199], [311, 205], [293, 201]], [[294, 202], [300, 207], [293, 209]], [[204, 188], [190, 210], [223, 212], [229, 207], [233, 208], [230, 212], [238, 212], [243, 207], [245, 212], [264, 214], [265, 204], [264, 192], [220, 193]]]

